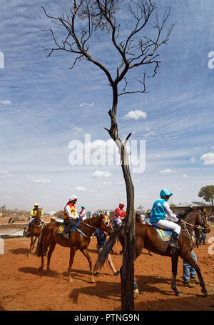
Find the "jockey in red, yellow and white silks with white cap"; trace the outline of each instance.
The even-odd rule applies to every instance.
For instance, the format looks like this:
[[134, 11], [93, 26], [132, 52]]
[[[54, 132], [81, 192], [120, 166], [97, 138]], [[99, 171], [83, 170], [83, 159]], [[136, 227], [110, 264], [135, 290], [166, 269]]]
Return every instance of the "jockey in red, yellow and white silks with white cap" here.
[[65, 229], [63, 230], [63, 236], [66, 239], [68, 239], [68, 232], [76, 225], [76, 221], [80, 221], [79, 219], [81, 219], [76, 212], [76, 201], [77, 197], [72, 195], [69, 197], [69, 201], [64, 207], [63, 224], [65, 224]]

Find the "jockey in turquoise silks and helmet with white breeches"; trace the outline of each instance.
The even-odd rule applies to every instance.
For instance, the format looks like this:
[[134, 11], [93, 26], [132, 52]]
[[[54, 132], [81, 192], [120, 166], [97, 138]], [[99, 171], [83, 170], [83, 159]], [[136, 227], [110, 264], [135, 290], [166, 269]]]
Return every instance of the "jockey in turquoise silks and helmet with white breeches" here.
[[[178, 248], [176, 240], [178, 239], [181, 228], [176, 224], [179, 219], [173, 214], [173, 211], [171, 211], [168, 205], [168, 199], [171, 195], [173, 194], [168, 189], [161, 190], [161, 199], [155, 201], [151, 209], [150, 222], [152, 226], [173, 231], [170, 239], [170, 247]], [[168, 216], [169, 220], [166, 220], [166, 216]]]

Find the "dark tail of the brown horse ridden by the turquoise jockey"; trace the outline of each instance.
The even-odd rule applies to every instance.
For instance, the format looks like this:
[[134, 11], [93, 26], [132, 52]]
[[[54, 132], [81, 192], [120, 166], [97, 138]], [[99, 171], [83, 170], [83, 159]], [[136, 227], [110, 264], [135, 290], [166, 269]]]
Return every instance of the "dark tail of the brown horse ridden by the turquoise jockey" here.
[[107, 243], [103, 246], [103, 250], [100, 254], [98, 254], [98, 259], [96, 261], [96, 268], [101, 269], [108, 257], [108, 254], [110, 253], [113, 245], [116, 242], [116, 239], [118, 239], [118, 236], [121, 234], [122, 226], [116, 227], [116, 229], [113, 231], [111, 236], [109, 237]]

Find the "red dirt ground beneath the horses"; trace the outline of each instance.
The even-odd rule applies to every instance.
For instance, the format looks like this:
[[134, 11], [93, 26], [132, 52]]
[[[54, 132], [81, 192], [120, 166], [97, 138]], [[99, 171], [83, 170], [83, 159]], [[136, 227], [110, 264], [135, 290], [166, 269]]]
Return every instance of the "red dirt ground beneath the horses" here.
[[[2, 221], [1, 221], [2, 222]], [[212, 232], [207, 236], [213, 237]], [[29, 256], [30, 239], [4, 239], [4, 254], [0, 255], [0, 310], [1, 311], [120, 311], [120, 276], [111, 269], [101, 269], [96, 283], [89, 281], [86, 258], [77, 251], [73, 262], [73, 283], [68, 283], [69, 249], [56, 245], [51, 257], [51, 270], [39, 271], [41, 259]], [[177, 297], [170, 288], [170, 258], [144, 251], [136, 260], [135, 274], [140, 295], [135, 300], [136, 311], [213, 311], [214, 310], [214, 247], [211, 244], [194, 247], [198, 265], [208, 290], [208, 297], [194, 288], [183, 287], [181, 259], [178, 261], [177, 286], [183, 296]], [[96, 260], [96, 239], [89, 245], [93, 262]], [[116, 269], [120, 269], [122, 256], [120, 244], [114, 246], [112, 255]], [[46, 258], [45, 258], [46, 263]]]

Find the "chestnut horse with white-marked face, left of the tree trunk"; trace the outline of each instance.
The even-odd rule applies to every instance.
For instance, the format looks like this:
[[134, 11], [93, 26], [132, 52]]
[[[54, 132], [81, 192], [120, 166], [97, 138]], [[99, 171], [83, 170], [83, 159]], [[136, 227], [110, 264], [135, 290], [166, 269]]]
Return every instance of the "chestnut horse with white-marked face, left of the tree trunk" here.
[[76, 224], [76, 230], [69, 232], [69, 238], [66, 239], [62, 234], [58, 234], [58, 227], [61, 226], [61, 222], [51, 219], [49, 224], [44, 226], [41, 233], [41, 238], [37, 244], [36, 255], [41, 256], [41, 266], [39, 266], [39, 271], [44, 268], [44, 254], [49, 247], [48, 259], [47, 259], [47, 270], [50, 269], [51, 254], [53, 253], [56, 244], [63, 247], [70, 247], [70, 260], [68, 267], [68, 281], [73, 282], [71, 277], [71, 268], [73, 264], [73, 259], [76, 251], [79, 249], [83, 255], [86, 257], [90, 267], [90, 279], [94, 283], [93, 271], [92, 271], [92, 261], [91, 256], [88, 253], [88, 245], [91, 240], [91, 235], [96, 229], [100, 229], [105, 234], [111, 234], [113, 228], [108, 217], [99, 215], [85, 221], [81, 221], [78, 225]]

